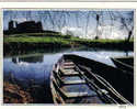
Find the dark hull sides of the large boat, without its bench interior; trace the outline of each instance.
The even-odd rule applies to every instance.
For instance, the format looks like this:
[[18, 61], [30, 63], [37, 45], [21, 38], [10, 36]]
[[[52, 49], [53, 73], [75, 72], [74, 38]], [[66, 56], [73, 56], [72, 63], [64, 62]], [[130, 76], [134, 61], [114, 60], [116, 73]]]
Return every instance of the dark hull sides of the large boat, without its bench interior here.
[[[71, 55], [71, 54], [64, 55], [53, 68], [53, 73], [50, 76], [50, 78], [52, 78], [50, 88], [52, 88], [53, 99], [54, 99], [55, 103], [66, 103], [66, 101], [64, 100], [65, 95], [60, 96], [61, 92], [59, 92], [60, 91], [59, 88], [55, 87], [56, 86], [55, 83], [57, 83], [56, 78], [58, 78], [55, 76], [55, 74], [58, 74], [59, 68], [57, 68], [57, 67], [61, 66], [61, 64], [65, 63], [65, 61], [67, 61], [67, 59], [72, 61], [77, 66], [79, 66], [79, 65], [85, 66], [87, 68], [93, 70], [94, 74], [100, 75], [102, 78], [104, 78], [106, 81], [109, 81], [114, 87], [114, 89], [119, 92], [119, 95], [122, 95], [124, 98], [127, 99], [127, 102], [129, 101], [129, 102], [134, 103], [134, 77], [133, 77], [133, 75], [130, 75], [128, 73], [124, 73], [123, 70], [119, 70], [118, 68], [114, 68], [114, 67], [105, 65], [103, 63], [100, 63], [100, 62], [96, 62], [93, 59], [89, 59], [85, 57], [81, 57], [78, 55]], [[91, 75], [89, 75], [88, 73], [85, 75], [89, 76], [89, 78], [92, 78], [92, 77], [90, 77]], [[100, 84], [99, 84], [99, 86], [100, 86]], [[112, 95], [112, 97], [116, 98], [113, 95]], [[117, 99], [117, 102], [125, 103], [125, 102], [121, 102], [119, 99]], [[73, 100], [70, 100], [69, 103], [73, 103]], [[82, 102], [82, 103], [84, 103], [84, 102]], [[90, 102], [90, 103], [92, 103], [92, 102]], [[96, 102], [93, 102], [93, 103], [105, 103], [105, 102], [98, 99]]]

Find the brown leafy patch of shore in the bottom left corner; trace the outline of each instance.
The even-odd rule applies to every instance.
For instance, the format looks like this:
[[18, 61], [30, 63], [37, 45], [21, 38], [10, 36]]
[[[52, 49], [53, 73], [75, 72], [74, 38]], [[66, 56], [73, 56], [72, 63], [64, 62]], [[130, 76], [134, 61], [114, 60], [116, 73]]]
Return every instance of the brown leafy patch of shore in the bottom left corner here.
[[3, 81], [3, 103], [32, 103], [31, 92], [22, 89], [16, 84]]

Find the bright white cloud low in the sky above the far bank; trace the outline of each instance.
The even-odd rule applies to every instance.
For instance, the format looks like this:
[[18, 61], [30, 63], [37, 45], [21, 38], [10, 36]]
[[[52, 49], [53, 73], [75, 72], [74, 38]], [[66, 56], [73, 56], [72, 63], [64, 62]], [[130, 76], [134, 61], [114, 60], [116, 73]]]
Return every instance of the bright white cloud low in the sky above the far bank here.
[[[61, 33], [69, 34], [72, 36], [79, 36], [82, 39], [94, 39], [96, 36], [96, 30], [91, 28], [88, 29], [88, 33], [85, 34], [85, 30], [83, 30], [82, 28], [65, 26], [61, 29]], [[99, 39], [124, 40], [126, 36], [126, 30], [119, 30], [118, 28], [111, 25], [99, 26]]]

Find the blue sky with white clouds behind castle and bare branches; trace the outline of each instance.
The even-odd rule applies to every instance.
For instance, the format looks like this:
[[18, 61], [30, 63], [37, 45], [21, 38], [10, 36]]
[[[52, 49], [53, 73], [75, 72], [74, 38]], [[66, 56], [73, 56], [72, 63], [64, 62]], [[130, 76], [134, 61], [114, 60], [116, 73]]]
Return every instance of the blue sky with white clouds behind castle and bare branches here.
[[10, 20], [18, 23], [41, 21], [44, 30], [83, 39], [94, 39], [96, 35], [100, 39], [125, 39], [134, 26], [134, 10], [4, 10], [4, 30]]

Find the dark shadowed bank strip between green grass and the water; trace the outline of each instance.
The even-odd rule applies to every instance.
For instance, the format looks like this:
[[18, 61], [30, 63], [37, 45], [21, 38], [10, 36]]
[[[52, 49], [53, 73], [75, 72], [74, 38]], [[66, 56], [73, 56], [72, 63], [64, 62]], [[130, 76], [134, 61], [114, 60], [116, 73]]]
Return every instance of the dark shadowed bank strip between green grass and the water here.
[[102, 50], [117, 50], [117, 51], [134, 51], [134, 42], [75, 42], [73, 44], [62, 43], [30, 43], [30, 42], [4, 42], [3, 55], [8, 54], [25, 54], [31, 51], [53, 51], [59, 48], [73, 48], [73, 47], [92, 47]]

